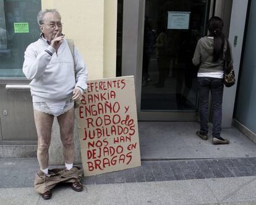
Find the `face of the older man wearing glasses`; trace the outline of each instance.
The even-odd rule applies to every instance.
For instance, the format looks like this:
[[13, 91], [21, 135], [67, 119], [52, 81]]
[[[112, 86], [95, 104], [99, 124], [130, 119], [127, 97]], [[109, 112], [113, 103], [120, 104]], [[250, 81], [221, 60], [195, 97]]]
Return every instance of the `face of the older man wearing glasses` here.
[[40, 30], [44, 33], [45, 39], [51, 41], [59, 31], [59, 36], [62, 32], [61, 18], [55, 12], [47, 12], [43, 17], [43, 24], [40, 25]]

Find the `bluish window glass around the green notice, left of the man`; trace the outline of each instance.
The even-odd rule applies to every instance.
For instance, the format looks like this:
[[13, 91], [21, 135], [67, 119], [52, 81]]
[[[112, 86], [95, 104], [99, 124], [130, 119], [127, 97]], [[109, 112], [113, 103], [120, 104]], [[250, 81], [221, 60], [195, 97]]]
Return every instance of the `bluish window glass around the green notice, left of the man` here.
[[[39, 10], [40, 0], [0, 0], [0, 78], [25, 78], [22, 73], [24, 52], [28, 44], [39, 38], [36, 22]], [[14, 23], [28, 23], [28, 33], [27, 28], [15, 32]], [[2, 40], [2, 33], [6, 33], [5, 40]]]

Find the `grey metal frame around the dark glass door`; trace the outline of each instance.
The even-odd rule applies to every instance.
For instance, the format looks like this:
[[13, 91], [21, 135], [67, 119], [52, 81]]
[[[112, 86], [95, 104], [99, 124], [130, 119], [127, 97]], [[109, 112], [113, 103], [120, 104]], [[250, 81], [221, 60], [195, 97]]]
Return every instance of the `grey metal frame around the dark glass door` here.
[[[216, 13], [216, 2], [220, 7], [220, 0], [207, 1], [208, 17]], [[215, 9], [215, 10], [214, 10]], [[134, 75], [135, 94], [138, 120], [147, 121], [198, 121], [195, 111], [140, 111], [142, 94], [142, 59], [144, 33], [145, 0], [124, 0], [122, 22], [122, 76]], [[205, 25], [207, 22], [205, 17]]]

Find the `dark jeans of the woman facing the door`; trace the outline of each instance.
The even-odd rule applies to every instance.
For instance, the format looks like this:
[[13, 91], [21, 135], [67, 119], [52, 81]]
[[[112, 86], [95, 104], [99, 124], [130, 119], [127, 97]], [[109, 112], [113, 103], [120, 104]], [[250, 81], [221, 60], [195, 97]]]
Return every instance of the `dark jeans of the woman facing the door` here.
[[198, 100], [199, 100], [199, 117], [200, 132], [208, 133], [208, 99], [211, 91], [212, 109], [213, 109], [213, 132], [215, 138], [220, 137], [221, 120], [222, 120], [222, 101], [223, 101], [223, 79], [198, 77]]

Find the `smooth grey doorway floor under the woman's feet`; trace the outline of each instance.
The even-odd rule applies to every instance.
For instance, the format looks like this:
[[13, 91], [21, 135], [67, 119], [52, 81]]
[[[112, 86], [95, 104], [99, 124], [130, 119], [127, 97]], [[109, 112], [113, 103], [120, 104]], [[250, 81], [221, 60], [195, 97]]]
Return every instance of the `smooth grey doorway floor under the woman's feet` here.
[[256, 144], [237, 128], [223, 128], [221, 135], [228, 138], [228, 146], [211, 143], [195, 135], [197, 122], [139, 122], [140, 153], [142, 159], [198, 159], [223, 157], [256, 157]]

